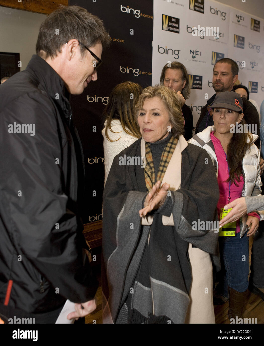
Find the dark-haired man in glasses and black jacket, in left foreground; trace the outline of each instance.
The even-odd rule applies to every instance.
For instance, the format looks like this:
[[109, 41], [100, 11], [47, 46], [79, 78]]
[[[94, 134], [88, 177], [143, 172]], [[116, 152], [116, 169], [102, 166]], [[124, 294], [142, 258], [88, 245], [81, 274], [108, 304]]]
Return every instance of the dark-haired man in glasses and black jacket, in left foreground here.
[[[65, 87], [97, 79], [109, 36], [102, 21], [69, 6], [40, 26], [26, 70], [0, 87], [0, 317], [54, 323], [66, 299], [92, 312], [98, 283], [85, 254], [82, 149]], [[88, 48], [89, 47], [89, 48]]]

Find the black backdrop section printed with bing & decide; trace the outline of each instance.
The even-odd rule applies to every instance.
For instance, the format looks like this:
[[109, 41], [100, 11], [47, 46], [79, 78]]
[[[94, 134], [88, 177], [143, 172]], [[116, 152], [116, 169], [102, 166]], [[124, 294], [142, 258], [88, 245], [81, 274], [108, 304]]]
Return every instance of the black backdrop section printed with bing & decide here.
[[70, 0], [103, 20], [111, 45], [103, 51], [98, 80], [71, 96], [73, 122], [83, 146], [85, 203], [83, 222], [102, 219], [104, 154], [102, 112], [111, 90], [123, 81], [151, 85], [153, 0]]

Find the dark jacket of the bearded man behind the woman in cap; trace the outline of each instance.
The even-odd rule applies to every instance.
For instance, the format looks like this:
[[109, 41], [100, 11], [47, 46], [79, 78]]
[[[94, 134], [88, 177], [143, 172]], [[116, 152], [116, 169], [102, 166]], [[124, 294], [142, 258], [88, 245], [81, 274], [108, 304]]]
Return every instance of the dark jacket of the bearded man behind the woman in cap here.
[[[234, 91], [234, 90], [231, 90]], [[216, 94], [214, 94], [208, 101], [205, 106], [201, 109], [201, 115], [200, 118], [197, 121], [196, 129], [195, 129], [195, 135], [198, 132], [203, 131], [208, 126], [213, 126], [213, 117], [210, 116], [207, 107], [210, 107], [213, 101], [215, 101]], [[258, 116], [258, 112], [254, 104], [252, 104], [250, 101], [242, 98], [243, 101], [243, 113], [244, 113], [244, 119], [247, 124], [256, 125], [257, 127], [257, 133], [258, 139], [254, 142], [254, 144], [260, 148], [260, 118]]]

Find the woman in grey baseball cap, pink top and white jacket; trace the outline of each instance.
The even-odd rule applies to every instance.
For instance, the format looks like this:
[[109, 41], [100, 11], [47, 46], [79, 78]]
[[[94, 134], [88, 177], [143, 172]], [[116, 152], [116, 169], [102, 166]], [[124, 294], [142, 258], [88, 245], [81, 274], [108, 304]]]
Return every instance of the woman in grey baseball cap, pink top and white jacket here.
[[[253, 144], [254, 125], [243, 119], [242, 98], [234, 91], [220, 92], [208, 108], [214, 126], [193, 136], [189, 143], [208, 152], [215, 166], [220, 198], [217, 204], [221, 220], [224, 206], [239, 197], [261, 194], [260, 153]], [[251, 133], [253, 132], [253, 133]], [[228, 318], [242, 318], [248, 288], [248, 237], [263, 220], [264, 212], [252, 212], [219, 229], [221, 272], [214, 294], [214, 304], [229, 300]], [[234, 319], [231, 320], [231, 319]]]

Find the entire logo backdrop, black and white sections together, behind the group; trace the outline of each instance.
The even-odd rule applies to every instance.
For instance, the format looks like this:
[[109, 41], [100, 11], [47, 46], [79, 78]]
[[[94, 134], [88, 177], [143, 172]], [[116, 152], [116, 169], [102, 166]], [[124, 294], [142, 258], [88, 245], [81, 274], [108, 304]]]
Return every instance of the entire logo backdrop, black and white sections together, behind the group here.
[[215, 93], [213, 65], [229, 57], [237, 62], [239, 80], [249, 88], [250, 98], [260, 106], [264, 99], [264, 20], [211, 0], [70, 0], [69, 4], [101, 18], [111, 38], [110, 48], [102, 54], [98, 80], [83, 94], [71, 96], [84, 151], [86, 223], [102, 219], [102, 112], [112, 88], [126, 80], [143, 87], [157, 84], [162, 67], [179, 61], [189, 73], [191, 95], [186, 104], [192, 109], [195, 126], [202, 106]]

